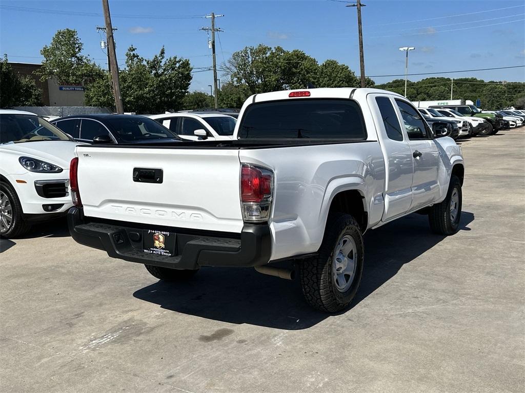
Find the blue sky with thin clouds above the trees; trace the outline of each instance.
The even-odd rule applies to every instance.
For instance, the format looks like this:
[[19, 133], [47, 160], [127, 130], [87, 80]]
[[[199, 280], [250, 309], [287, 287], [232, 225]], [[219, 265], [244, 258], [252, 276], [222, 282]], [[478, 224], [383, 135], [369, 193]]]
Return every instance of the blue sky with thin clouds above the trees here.
[[[525, 2], [523, 0], [362, 0], [365, 75], [376, 83], [403, 77], [405, 54], [409, 76], [477, 77], [485, 80], [525, 81], [525, 68], [445, 73], [454, 70], [525, 65]], [[300, 49], [319, 63], [335, 59], [359, 76], [359, 45], [355, 7], [344, 0], [281, 1], [145, 1], [109, 0], [119, 65], [130, 45], [142, 57], [164, 46], [167, 56], [184, 57], [195, 68], [211, 67], [211, 49], [203, 16], [214, 12], [217, 63], [245, 46], [265, 44]], [[31, 8], [34, 11], [22, 10]], [[45, 11], [42, 11], [45, 10]], [[87, 15], [86, 15], [87, 14]], [[58, 29], [72, 28], [84, 44], [83, 53], [107, 67], [100, 0], [0, 1], [0, 54], [9, 61], [39, 63], [40, 49]], [[195, 70], [196, 71], [196, 70]], [[221, 72], [219, 79], [227, 81]], [[194, 72], [190, 90], [209, 91], [213, 72]]]

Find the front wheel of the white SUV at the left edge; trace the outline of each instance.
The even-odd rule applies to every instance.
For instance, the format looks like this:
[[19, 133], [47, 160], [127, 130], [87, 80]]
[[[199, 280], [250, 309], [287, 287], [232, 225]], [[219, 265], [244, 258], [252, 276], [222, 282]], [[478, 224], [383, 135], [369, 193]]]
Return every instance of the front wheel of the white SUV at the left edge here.
[[24, 235], [29, 228], [15, 190], [8, 183], [0, 183], [0, 236], [15, 238]]

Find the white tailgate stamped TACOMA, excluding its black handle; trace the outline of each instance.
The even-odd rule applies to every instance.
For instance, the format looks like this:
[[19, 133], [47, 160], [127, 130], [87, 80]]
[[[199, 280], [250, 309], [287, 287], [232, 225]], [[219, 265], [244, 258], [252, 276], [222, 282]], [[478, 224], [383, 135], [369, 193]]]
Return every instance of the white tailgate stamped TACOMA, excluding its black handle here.
[[[243, 228], [237, 149], [83, 145], [77, 153], [87, 217], [226, 232]], [[162, 169], [162, 183], [135, 181], [135, 168]]]

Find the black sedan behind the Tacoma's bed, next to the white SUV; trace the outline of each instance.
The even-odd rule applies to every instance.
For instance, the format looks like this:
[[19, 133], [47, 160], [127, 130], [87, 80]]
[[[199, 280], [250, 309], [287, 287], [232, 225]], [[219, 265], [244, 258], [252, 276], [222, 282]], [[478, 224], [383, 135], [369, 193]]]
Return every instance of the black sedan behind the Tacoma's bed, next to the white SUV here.
[[85, 114], [51, 121], [79, 142], [141, 143], [173, 142], [180, 138], [158, 122], [140, 115]]

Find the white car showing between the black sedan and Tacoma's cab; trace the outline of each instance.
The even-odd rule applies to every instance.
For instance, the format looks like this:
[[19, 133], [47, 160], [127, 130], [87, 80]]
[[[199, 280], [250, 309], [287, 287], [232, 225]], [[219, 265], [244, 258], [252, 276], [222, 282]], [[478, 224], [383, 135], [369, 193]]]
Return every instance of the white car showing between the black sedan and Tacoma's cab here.
[[177, 112], [149, 117], [187, 141], [231, 141], [237, 121], [220, 113]]

